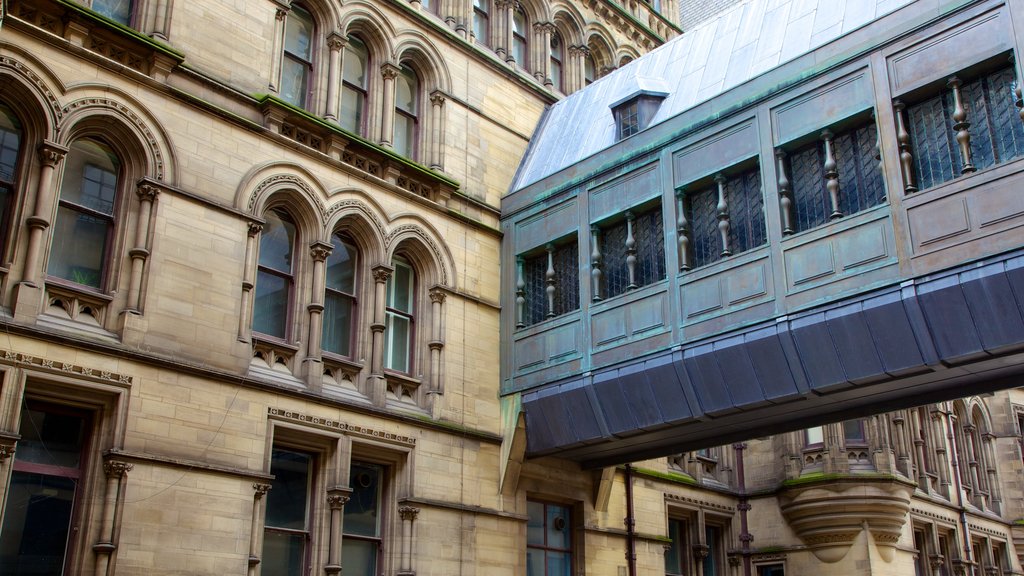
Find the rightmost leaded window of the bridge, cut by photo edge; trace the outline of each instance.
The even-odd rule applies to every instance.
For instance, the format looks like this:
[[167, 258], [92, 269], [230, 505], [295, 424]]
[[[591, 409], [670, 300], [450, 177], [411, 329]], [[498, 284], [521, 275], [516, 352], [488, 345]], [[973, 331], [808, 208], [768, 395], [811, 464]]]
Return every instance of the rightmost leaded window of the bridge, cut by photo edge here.
[[1015, 83], [1014, 69], [1007, 66], [973, 79], [951, 77], [938, 94], [905, 112], [896, 102], [900, 147], [910, 154], [903, 165], [907, 192], [1024, 155]]

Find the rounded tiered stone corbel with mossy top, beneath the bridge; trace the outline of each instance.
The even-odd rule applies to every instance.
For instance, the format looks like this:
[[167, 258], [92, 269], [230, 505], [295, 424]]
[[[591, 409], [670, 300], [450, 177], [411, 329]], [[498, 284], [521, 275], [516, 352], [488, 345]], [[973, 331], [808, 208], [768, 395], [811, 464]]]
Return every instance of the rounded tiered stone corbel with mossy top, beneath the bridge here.
[[783, 488], [780, 509], [821, 562], [841, 561], [864, 530], [888, 558], [906, 523], [913, 488], [896, 477], [822, 477]]

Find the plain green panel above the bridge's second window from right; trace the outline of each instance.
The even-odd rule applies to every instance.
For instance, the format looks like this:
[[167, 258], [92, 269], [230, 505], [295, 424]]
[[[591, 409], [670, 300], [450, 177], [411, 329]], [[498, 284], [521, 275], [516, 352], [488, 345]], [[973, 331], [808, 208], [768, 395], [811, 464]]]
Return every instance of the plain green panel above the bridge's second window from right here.
[[866, 70], [804, 94], [772, 111], [775, 146], [868, 110], [873, 99]]

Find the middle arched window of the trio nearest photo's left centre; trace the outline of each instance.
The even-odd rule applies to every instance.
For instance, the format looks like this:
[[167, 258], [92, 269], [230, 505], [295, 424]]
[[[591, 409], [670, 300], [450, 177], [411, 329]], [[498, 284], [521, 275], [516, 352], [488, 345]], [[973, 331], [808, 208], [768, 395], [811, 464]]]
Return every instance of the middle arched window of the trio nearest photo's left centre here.
[[324, 352], [352, 356], [358, 251], [348, 238], [335, 234], [327, 258], [324, 296]]

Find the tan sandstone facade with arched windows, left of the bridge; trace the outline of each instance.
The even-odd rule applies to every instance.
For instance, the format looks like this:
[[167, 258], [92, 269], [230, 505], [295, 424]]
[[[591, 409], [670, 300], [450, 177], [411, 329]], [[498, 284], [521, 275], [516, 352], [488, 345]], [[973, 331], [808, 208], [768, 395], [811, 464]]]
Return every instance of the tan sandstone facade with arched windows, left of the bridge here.
[[3, 6], [0, 573], [523, 573], [500, 198], [675, 2]]

